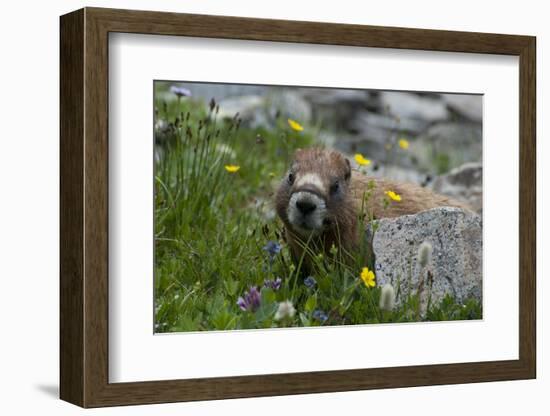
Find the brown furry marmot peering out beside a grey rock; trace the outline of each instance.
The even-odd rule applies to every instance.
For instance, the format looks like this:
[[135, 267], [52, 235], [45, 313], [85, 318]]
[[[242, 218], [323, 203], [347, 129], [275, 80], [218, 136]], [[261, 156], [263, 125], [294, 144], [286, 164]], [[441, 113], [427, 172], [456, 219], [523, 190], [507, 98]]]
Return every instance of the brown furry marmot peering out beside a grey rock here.
[[[366, 201], [365, 192], [370, 193]], [[321, 148], [296, 151], [276, 192], [275, 205], [295, 260], [301, 258], [308, 240], [326, 254], [333, 245], [353, 253], [361, 212], [367, 223], [441, 206], [467, 208], [418, 185], [369, 178], [352, 169], [341, 153]]]

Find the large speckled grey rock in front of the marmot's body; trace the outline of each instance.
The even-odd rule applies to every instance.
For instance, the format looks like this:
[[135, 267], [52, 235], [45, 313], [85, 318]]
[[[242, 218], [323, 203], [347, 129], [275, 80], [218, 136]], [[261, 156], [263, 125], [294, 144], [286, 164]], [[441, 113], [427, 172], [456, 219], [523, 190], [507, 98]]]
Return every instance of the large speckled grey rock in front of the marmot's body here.
[[[415, 215], [380, 219], [372, 238], [377, 285], [391, 284], [396, 304], [418, 293], [421, 313], [428, 298], [439, 303], [446, 294], [457, 302], [482, 299], [481, 217], [459, 208], [434, 208]], [[372, 233], [372, 231], [371, 231]], [[423, 242], [432, 246], [426, 267], [417, 259]], [[430, 285], [428, 272], [433, 276]], [[423, 282], [423, 283], [422, 283]], [[423, 289], [420, 289], [423, 287]], [[431, 295], [430, 295], [431, 294]]]

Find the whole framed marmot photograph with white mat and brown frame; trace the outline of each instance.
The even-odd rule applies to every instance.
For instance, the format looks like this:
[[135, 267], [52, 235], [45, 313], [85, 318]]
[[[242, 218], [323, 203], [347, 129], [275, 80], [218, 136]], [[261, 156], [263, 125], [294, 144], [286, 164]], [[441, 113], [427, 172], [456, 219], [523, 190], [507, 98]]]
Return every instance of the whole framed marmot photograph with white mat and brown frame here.
[[534, 37], [60, 29], [63, 400], [536, 377]]

